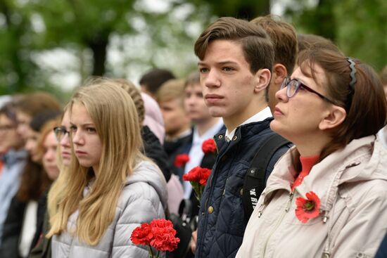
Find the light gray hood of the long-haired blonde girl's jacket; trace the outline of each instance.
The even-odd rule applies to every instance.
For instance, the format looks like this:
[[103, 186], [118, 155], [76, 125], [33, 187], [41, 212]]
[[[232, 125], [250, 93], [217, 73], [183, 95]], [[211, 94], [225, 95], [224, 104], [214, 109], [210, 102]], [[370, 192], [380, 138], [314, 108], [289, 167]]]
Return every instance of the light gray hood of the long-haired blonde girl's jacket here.
[[137, 163], [133, 174], [127, 177], [125, 186], [138, 182], [151, 185], [158, 193], [163, 207], [167, 207], [167, 182], [157, 165], [147, 160]]

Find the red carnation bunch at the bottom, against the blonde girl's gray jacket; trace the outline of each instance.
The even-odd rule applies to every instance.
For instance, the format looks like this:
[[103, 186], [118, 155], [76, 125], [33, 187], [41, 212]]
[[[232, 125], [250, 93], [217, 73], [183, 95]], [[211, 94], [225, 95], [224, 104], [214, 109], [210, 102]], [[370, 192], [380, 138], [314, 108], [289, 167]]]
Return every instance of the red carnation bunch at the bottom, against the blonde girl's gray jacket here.
[[[160, 252], [172, 252], [177, 248], [180, 239], [175, 238], [175, 236], [176, 231], [170, 220], [153, 219], [150, 224], [144, 223], [134, 228], [130, 240], [135, 245], [148, 245], [148, 251], [151, 257], [159, 257]], [[151, 247], [156, 248], [156, 256], [154, 256]]]

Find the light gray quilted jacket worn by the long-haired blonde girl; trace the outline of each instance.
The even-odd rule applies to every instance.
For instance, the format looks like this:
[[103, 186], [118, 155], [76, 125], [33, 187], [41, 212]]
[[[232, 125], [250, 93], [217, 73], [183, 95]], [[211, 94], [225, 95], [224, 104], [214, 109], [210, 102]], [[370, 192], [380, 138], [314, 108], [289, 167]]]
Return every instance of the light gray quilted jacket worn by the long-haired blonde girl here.
[[[87, 189], [84, 193], [87, 193]], [[130, 236], [134, 228], [142, 223], [164, 218], [166, 203], [166, 182], [160, 169], [151, 162], [139, 162], [134, 168], [134, 173], [127, 177], [127, 183], [115, 207], [115, 218], [99, 243], [94, 246], [87, 245], [68, 233], [70, 228], [75, 228], [77, 211], [68, 220], [68, 231], [60, 236], [53, 236], [52, 257], [148, 258], [146, 247], [134, 245]]]

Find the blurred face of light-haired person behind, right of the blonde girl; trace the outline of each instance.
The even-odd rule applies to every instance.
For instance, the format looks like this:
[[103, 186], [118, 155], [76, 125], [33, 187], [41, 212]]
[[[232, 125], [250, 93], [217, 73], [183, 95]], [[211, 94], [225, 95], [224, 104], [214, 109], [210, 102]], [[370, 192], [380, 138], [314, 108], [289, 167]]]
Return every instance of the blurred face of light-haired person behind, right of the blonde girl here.
[[190, 120], [182, 106], [182, 99], [163, 101], [159, 105], [163, 113], [165, 133], [168, 136], [174, 136], [189, 127]]

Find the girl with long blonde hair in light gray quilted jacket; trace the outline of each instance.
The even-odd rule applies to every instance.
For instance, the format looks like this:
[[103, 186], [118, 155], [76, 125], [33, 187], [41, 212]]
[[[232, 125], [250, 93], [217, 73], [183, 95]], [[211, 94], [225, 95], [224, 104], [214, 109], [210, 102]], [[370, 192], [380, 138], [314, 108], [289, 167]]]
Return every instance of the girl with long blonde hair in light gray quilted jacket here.
[[141, 154], [136, 108], [114, 83], [82, 86], [68, 105], [72, 158], [49, 200], [53, 257], [148, 257], [130, 235], [165, 217], [165, 179]]

